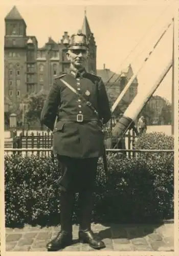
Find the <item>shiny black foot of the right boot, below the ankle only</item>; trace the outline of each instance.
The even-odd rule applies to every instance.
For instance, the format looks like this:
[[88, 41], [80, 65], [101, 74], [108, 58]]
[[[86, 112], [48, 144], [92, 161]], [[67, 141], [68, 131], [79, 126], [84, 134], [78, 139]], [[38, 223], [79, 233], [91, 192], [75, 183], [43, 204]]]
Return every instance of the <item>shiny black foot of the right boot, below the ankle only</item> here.
[[79, 241], [80, 243], [87, 243], [89, 246], [98, 250], [106, 247], [98, 236], [94, 236], [92, 230], [79, 230]]

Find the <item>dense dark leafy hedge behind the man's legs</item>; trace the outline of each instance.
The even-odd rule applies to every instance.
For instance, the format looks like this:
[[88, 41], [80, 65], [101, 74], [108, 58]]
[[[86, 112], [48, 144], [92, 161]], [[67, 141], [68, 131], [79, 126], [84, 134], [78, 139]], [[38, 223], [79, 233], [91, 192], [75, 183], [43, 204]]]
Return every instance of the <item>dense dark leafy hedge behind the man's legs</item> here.
[[[114, 156], [108, 158], [107, 175], [99, 159], [92, 221], [148, 223], [173, 218], [173, 174], [173, 153], [148, 153], [139, 159]], [[57, 162], [51, 157], [5, 156], [6, 226], [59, 224], [59, 190], [54, 182], [58, 177]], [[76, 201], [74, 223], [77, 212]]]

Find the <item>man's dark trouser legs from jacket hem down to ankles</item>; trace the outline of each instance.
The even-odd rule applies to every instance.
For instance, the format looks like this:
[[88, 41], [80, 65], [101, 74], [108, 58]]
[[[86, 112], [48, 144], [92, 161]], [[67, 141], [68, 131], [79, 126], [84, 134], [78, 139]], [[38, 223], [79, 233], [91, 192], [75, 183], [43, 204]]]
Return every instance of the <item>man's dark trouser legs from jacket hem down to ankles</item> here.
[[61, 230], [72, 232], [72, 214], [75, 193], [79, 193], [79, 230], [91, 229], [93, 193], [98, 158], [71, 158], [58, 155], [61, 169], [59, 186]]

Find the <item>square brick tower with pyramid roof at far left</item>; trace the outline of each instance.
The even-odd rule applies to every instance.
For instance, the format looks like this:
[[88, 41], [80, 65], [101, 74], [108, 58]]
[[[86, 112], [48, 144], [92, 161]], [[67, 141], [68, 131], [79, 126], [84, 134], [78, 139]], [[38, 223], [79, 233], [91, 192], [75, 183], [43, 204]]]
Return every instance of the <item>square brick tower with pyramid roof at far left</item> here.
[[35, 91], [37, 40], [26, 35], [26, 28], [25, 20], [14, 6], [5, 17], [4, 41], [4, 92], [12, 105], [18, 105], [21, 96]]

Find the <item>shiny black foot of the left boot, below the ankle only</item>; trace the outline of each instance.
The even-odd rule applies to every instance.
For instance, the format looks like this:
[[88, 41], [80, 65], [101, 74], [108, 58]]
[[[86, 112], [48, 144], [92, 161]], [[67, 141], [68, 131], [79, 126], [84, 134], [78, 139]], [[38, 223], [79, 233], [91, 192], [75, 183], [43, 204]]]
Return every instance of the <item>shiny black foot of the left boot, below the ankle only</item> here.
[[48, 251], [58, 251], [72, 244], [72, 233], [60, 231], [56, 238], [47, 244]]

